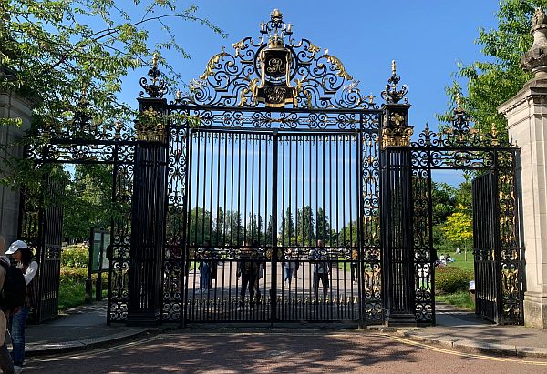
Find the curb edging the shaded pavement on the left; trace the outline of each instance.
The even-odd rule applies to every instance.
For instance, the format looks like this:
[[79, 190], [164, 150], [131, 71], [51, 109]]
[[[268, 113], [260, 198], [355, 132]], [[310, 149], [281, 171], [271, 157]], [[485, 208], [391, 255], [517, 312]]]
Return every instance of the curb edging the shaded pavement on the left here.
[[142, 335], [148, 335], [153, 332], [153, 330], [149, 329], [129, 329], [99, 338], [73, 340], [61, 343], [31, 343], [26, 344], [25, 354], [28, 358], [34, 358], [37, 356], [55, 355], [77, 350], [95, 349], [99, 346], [104, 347], [105, 345], [119, 343], [121, 341], [137, 338]]

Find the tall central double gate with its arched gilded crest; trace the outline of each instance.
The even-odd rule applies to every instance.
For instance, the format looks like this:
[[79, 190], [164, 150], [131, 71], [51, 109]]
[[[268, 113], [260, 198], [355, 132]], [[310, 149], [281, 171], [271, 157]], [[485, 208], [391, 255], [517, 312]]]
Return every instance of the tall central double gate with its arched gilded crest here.
[[162, 320], [379, 323], [382, 111], [278, 11], [261, 34], [145, 106], [170, 118]]

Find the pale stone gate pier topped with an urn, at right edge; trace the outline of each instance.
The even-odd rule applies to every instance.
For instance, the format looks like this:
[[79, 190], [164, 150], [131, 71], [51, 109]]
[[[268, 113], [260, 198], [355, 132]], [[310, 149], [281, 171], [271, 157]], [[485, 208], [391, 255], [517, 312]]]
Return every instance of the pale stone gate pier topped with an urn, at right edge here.
[[533, 16], [530, 50], [521, 66], [533, 77], [498, 107], [513, 144], [521, 147], [521, 233], [526, 253], [524, 323], [547, 329], [547, 16]]

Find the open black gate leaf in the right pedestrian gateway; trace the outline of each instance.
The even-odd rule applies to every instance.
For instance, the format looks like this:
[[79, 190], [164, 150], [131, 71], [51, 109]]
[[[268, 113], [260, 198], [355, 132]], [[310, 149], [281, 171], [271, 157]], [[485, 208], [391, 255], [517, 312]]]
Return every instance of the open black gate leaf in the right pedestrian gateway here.
[[473, 180], [473, 253], [475, 256], [475, 312], [501, 322], [499, 202], [493, 173]]

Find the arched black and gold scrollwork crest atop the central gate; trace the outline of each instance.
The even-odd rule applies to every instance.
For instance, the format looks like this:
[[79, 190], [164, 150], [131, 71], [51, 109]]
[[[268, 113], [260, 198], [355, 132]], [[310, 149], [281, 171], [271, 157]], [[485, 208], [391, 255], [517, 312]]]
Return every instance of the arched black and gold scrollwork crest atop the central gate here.
[[262, 23], [257, 40], [245, 37], [233, 53], [222, 51], [209, 60], [190, 90], [176, 104], [196, 106], [265, 106], [293, 104], [303, 108], [377, 109], [364, 97], [359, 82], [328, 50], [307, 39], [293, 38], [293, 25], [274, 10]]

